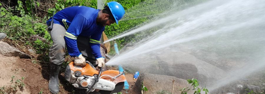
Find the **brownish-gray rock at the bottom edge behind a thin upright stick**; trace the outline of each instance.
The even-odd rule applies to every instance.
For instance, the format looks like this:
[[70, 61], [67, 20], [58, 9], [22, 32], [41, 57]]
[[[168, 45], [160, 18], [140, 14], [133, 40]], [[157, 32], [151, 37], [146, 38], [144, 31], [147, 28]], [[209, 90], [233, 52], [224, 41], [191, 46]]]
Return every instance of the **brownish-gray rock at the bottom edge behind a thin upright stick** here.
[[[189, 87], [192, 89], [191, 85], [184, 79], [176, 78], [173, 76], [168, 75], [157, 75], [157, 74], [150, 74], [150, 73], [141, 73], [138, 77], [135, 88], [138, 90], [137, 92], [141, 92], [142, 82], [145, 87], [148, 88], [148, 91], [145, 94], [156, 94], [159, 91], [168, 91], [172, 92], [172, 79], [175, 80], [174, 82], [174, 94], [180, 94], [180, 89]], [[193, 91], [189, 91], [188, 94], [193, 94]]]

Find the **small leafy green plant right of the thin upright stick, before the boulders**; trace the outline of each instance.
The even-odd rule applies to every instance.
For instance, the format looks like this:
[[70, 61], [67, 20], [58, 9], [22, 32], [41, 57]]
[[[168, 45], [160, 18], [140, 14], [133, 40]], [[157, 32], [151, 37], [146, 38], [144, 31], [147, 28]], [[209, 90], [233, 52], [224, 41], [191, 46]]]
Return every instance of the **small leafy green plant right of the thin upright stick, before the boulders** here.
[[209, 91], [208, 89], [206, 89], [206, 87], [204, 88], [199, 88], [199, 82], [197, 79], [188, 79], [187, 80], [189, 84], [191, 84], [191, 86], [193, 86], [193, 89], [192, 90], [195, 90], [193, 94], [201, 94], [201, 90], [205, 91], [205, 94], [207, 94]]

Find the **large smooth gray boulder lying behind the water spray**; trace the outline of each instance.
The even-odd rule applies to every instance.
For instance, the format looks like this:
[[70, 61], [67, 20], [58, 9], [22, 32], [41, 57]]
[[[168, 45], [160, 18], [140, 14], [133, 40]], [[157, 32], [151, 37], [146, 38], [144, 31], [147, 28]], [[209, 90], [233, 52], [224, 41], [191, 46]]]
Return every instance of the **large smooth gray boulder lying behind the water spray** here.
[[222, 69], [181, 51], [154, 51], [118, 60], [129, 62], [124, 66], [132, 72], [169, 75], [186, 80], [196, 78], [203, 86], [226, 75]]

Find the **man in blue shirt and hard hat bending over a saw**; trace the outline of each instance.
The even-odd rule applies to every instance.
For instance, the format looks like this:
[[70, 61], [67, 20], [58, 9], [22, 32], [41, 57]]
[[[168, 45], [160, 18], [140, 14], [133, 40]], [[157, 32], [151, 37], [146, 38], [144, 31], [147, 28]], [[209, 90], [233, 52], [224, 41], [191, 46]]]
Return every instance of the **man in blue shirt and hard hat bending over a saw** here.
[[[106, 25], [122, 19], [125, 10], [118, 2], [112, 1], [102, 10], [86, 7], [72, 6], [57, 12], [53, 16], [53, 28], [49, 31], [53, 45], [50, 48], [49, 58], [51, 74], [49, 90], [59, 92], [58, 74], [60, 66], [65, 59], [65, 45], [74, 64], [85, 66], [85, 60], [96, 61], [98, 67], [105, 65], [104, 57], [100, 53], [100, 37]], [[47, 24], [50, 25], [50, 18]], [[94, 60], [94, 61], [93, 61]]]

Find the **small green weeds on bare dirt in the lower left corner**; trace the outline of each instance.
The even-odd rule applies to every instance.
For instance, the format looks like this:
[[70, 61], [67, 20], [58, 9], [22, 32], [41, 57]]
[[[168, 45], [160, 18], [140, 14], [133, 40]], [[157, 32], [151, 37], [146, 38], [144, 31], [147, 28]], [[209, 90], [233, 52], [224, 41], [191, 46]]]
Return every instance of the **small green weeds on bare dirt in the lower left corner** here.
[[23, 89], [25, 87], [25, 84], [23, 82], [25, 79], [24, 77], [22, 77], [21, 79], [17, 79], [15, 82], [14, 79], [15, 76], [12, 76], [10, 85], [0, 87], [0, 94], [15, 93], [17, 90]]

